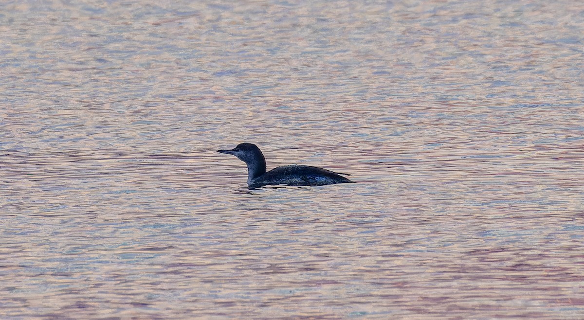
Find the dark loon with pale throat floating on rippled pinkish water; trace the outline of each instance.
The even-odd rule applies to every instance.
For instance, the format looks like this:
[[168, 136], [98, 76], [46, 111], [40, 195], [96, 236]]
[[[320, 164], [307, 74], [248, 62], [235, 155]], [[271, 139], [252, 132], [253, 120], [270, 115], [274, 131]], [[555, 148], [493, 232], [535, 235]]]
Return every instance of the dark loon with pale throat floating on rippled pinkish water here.
[[222, 154], [237, 156], [248, 165], [248, 186], [261, 187], [266, 185], [288, 186], [322, 186], [334, 183], [354, 183], [339, 176], [347, 173], [337, 173], [315, 166], [291, 165], [279, 166], [266, 172], [266, 158], [257, 145], [241, 143], [231, 150], [217, 150]]

